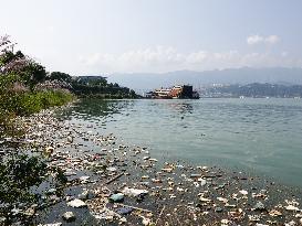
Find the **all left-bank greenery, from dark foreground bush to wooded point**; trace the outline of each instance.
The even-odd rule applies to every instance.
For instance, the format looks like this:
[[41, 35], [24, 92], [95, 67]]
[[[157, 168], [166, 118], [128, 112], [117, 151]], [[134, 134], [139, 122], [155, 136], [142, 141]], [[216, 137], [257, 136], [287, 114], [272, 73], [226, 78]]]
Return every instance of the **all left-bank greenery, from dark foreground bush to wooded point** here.
[[49, 73], [14, 49], [8, 35], [0, 37], [0, 225], [29, 224], [35, 211], [43, 208], [39, 205], [42, 196], [34, 190], [43, 183], [61, 186], [65, 180], [59, 168], [48, 166], [44, 153], [38, 151], [42, 147], [29, 141], [20, 117], [76, 98], [138, 97], [126, 87], [107, 83], [105, 77], [91, 83], [61, 72]]

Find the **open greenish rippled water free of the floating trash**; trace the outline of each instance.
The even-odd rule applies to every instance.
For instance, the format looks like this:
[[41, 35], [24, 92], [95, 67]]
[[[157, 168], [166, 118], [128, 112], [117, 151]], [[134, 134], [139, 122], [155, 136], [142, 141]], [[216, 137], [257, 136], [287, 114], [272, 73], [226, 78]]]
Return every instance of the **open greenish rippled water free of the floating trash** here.
[[302, 186], [301, 99], [97, 100], [64, 112], [159, 159], [242, 169]]

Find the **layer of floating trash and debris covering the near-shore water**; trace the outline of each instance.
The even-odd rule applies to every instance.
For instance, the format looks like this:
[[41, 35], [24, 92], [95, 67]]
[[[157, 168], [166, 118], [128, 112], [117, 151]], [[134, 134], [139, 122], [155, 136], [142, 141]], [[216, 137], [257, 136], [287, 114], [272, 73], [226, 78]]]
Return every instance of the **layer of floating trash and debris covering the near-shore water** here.
[[300, 191], [217, 166], [162, 164], [149, 148], [54, 112], [21, 119], [25, 142], [67, 179], [61, 190], [35, 187], [49, 205], [32, 212], [33, 225], [302, 225]]

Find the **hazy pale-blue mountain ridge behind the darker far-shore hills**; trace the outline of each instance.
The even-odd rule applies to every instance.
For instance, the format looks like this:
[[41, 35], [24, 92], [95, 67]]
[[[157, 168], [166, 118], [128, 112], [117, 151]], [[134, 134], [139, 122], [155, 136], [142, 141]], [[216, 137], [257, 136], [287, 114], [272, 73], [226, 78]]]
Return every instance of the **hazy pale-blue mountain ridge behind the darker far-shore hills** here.
[[128, 73], [112, 74], [108, 82], [135, 90], [150, 90], [158, 87], [170, 87], [177, 84], [191, 84], [195, 88], [209, 84], [251, 84], [270, 83], [279, 85], [302, 85], [302, 68], [230, 68], [205, 72], [177, 71], [163, 74]]

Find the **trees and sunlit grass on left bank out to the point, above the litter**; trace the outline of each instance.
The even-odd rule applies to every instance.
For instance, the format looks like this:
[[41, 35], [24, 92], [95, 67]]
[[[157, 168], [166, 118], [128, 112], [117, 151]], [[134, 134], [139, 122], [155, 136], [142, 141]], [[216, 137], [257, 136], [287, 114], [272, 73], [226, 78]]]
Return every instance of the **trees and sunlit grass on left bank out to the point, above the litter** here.
[[107, 83], [103, 76], [49, 73], [43, 65], [14, 47], [15, 43], [8, 35], [0, 37], [0, 136], [14, 132], [12, 121], [17, 116], [30, 116], [76, 98], [140, 97], [127, 87]]

